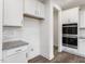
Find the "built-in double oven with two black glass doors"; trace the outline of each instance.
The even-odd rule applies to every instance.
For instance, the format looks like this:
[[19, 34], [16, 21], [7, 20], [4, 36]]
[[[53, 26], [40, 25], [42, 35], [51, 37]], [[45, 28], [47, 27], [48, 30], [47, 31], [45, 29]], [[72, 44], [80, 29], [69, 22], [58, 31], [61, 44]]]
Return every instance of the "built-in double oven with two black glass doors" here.
[[77, 24], [62, 24], [62, 46], [77, 49]]

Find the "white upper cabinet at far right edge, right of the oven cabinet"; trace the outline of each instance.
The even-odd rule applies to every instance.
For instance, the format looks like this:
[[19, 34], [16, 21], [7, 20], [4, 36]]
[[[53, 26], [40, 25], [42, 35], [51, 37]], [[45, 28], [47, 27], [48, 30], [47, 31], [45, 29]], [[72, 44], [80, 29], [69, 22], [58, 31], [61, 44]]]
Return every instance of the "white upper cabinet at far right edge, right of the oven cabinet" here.
[[80, 10], [80, 28], [85, 28], [85, 7]]

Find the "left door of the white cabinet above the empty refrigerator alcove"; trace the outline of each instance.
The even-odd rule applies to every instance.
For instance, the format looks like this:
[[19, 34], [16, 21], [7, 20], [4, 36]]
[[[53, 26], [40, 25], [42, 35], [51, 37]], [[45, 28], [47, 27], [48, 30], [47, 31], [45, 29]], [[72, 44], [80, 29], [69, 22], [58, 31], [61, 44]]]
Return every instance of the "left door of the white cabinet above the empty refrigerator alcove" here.
[[36, 14], [36, 0], [25, 0], [25, 13], [30, 15]]

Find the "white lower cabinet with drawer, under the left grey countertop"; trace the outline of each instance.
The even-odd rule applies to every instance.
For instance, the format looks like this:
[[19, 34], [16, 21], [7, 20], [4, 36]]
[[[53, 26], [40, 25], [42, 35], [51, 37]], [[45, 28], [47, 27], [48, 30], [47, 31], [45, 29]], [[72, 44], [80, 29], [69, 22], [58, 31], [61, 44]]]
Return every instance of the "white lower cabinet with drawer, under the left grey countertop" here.
[[3, 51], [3, 63], [27, 63], [27, 46]]

